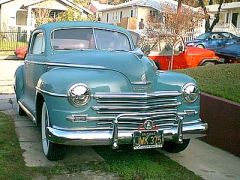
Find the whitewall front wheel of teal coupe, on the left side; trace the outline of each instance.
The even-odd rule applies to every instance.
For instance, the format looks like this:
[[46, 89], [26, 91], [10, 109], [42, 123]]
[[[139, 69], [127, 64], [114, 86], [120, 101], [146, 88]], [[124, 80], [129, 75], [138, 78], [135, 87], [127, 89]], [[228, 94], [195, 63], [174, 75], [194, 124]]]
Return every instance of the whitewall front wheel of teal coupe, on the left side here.
[[55, 144], [48, 140], [46, 136], [46, 129], [50, 126], [49, 115], [47, 105], [44, 102], [42, 105], [42, 117], [41, 117], [41, 135], [42, 135], [42, 149], [44, 155], [50, 161], [56, 161], [63, 159], [65, 156], [65, 147], [61, 144]]

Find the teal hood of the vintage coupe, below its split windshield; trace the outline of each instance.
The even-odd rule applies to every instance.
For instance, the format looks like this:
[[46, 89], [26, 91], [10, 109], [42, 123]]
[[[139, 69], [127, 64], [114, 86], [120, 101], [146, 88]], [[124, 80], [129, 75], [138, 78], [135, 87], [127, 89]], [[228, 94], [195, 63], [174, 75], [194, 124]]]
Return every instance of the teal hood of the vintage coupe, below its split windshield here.
[[132, 52], [122, 51], [71, 51], [52, 55], [49, 62], [55, 65], [72, 65], [76, 68], [94, 68], [118, 71], [131, 82], [152, 81], [156, 69], [152, 61], [143, 56], [139, 58]]

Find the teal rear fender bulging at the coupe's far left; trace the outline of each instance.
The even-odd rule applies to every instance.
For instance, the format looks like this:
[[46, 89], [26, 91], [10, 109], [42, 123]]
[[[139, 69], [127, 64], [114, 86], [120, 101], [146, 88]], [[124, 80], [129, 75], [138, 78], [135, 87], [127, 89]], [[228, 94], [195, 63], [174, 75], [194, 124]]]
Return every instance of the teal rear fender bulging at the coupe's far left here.
[[15, 83], [14, 83], [14, 91], [16, 94], [17, 101], [23, 95], [23, 87], [24, 87], [24, 65], [20, 65], [14, 75]]

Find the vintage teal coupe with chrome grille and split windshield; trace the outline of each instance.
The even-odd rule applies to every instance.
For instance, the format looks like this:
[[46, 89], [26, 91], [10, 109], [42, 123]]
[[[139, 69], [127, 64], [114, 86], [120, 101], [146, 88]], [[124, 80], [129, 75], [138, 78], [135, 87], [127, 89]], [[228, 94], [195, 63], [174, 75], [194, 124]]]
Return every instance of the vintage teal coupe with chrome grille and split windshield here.
[[15, 92], [19, 114], [41, 127], [49, 160], [63, 158], [64, 145], [180, 152], [207, 129], [196, 82], [157, 70], [126, 29], [109, 24], [61, 22], [34, 30]]

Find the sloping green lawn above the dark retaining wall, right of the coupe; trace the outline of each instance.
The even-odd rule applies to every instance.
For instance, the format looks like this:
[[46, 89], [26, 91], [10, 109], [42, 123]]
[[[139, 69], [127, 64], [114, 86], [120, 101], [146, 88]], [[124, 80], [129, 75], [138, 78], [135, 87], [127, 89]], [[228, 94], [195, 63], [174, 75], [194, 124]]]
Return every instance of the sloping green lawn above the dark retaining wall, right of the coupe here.
[[178, 70], [196, 79], [202, 92], [240, 103], [240, 64]]

